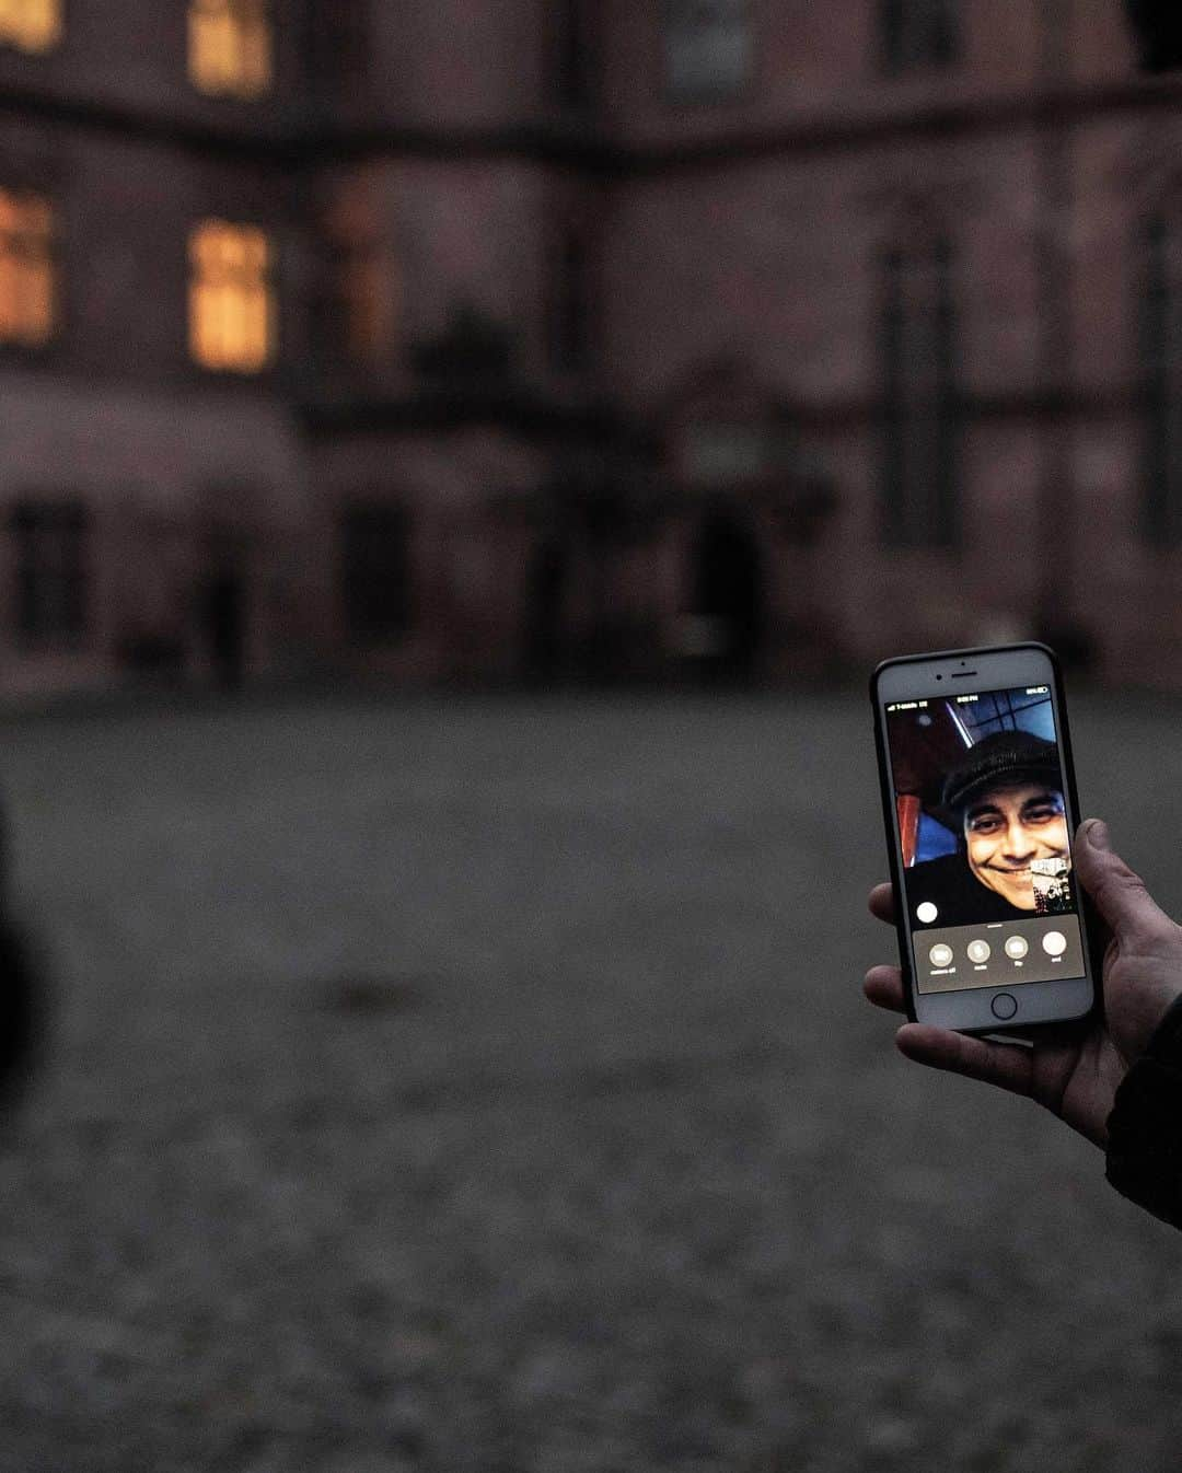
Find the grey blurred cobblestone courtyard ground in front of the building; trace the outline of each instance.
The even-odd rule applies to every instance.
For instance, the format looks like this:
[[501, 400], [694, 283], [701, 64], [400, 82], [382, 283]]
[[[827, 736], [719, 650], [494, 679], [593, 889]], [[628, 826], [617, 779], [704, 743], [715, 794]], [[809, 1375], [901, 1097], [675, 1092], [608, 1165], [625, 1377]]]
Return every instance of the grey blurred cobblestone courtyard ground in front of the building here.
[[[1179, 907], [1176, 714], [1076, 726]], [[861, 692], [0, 731], [0, 1467], [1176, 1467], [1182, 1237], [861, 999]]]

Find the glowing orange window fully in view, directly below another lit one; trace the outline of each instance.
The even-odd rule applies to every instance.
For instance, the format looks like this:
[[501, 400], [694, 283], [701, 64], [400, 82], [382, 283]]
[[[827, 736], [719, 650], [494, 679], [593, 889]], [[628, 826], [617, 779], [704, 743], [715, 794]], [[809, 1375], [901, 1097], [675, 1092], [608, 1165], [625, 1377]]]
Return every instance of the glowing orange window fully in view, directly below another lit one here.
[[258, 373], [274, 352], [271, 245], [265, 231], [206, 219], [189, 242], [189, 348], [202, 368]]

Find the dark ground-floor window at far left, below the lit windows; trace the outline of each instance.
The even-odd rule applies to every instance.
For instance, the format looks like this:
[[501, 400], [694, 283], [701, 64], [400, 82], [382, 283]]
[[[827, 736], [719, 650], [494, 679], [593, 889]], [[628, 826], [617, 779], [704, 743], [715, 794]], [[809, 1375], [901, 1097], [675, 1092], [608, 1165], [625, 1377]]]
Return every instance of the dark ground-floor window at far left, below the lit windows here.
[[10, 529], [21, 645], [78, 647], [85, 633], [85, 507], [80, 502], [19, 502], [12, 510]]

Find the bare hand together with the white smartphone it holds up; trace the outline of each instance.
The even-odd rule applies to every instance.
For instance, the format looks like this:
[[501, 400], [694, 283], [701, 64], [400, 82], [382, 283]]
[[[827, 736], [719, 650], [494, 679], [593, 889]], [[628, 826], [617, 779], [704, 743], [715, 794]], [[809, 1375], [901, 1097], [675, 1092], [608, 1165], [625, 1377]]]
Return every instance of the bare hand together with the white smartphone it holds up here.
[[[1182, 996], [1182, 928], [1102, 823], [1076, 828], [1054, 654], [889, 660], [871, 700], [892, 884], [870, 906], [901, 965], [871, 968], [867, 996], [908, 1015], [908, 1058], [1029, 1094], [1104, 1145], [1117, 1086]], [[974, 1037], [1007, 1024], [1035, 1025], [1033, 1046]]]

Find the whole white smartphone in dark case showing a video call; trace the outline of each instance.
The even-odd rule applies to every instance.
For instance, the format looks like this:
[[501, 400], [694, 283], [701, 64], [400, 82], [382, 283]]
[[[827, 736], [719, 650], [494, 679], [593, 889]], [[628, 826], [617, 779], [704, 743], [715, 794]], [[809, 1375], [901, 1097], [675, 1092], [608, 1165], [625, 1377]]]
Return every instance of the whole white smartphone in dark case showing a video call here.
[[962, 1033], [1085, 1018], [1099, 965], [1054, 653], [886, 660], [871, 701], [908, 1016]]

